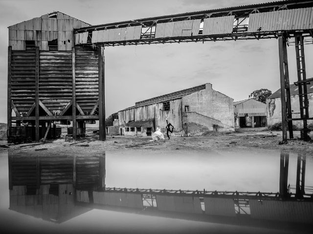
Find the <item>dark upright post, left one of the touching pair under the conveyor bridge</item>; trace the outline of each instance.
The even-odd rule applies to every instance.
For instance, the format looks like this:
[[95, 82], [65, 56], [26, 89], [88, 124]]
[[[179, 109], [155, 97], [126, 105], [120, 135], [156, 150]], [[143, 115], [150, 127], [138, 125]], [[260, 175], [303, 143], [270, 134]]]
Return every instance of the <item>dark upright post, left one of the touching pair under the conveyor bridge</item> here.
[[282, 104], [282, 130], [283, 142], [287, 142], [287, 112], [286, 112], [286, 93], [285, 93], [285, 65], [284, 65], [284, 37], [278, 37], [278, 52], [279, 52], [279, 71], [280, 71], [280, 97]]

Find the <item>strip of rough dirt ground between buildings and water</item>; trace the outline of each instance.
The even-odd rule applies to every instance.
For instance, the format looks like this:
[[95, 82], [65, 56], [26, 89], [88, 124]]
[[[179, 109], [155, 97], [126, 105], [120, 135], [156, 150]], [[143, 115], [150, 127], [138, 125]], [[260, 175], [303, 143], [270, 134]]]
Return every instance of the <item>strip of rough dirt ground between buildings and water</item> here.
[[[21, 153], [32, 152], [62, 152], [68, 155], [77, 154], [101, 154], [103, 152], [124, 152], [124, 151], [159, 151], [168, 152], [172, 150], [181, 151], [207, 151], [217, 148], [238, 148], [238, 149], [276, 149], [287, 150], [292, 153], [312, 154], [313, 143], [299, 140], [300, 132], [294, 132], [294, 139], [286, 144], [279, 144], [282, 141], [281, 131], [268, 131], [266, 129], [241, 129], [235, 133], [210, 132], [196, 137], [171, 137], [170, 140], [153, 141], [151, 137], [124, 137], [107, 136], [106, 141], [99, 141], [99, 136], [92, 133], [92, 128], [87, 129], [88, 137], [76, 141], [65, 141], [65, 136], [47, 143], [41, 144], [19, 144], [10, 145], [9, 148]], [[313, 138], [313, 136], [312, 136]], [[68, 139], [67, 139], [68, 140]], [[6, 141], [0, 141], [0, 145]], [[7, 148], [0, 148], [7, 150]]]

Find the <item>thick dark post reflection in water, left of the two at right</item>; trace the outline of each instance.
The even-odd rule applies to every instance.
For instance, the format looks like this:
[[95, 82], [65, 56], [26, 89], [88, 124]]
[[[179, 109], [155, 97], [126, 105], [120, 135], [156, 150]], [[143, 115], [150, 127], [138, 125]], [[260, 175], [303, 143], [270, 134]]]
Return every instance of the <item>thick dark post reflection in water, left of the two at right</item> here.
[[282, 198], [288, 197], [288, 167], [289, 153], [280, 153], [279, 194]]

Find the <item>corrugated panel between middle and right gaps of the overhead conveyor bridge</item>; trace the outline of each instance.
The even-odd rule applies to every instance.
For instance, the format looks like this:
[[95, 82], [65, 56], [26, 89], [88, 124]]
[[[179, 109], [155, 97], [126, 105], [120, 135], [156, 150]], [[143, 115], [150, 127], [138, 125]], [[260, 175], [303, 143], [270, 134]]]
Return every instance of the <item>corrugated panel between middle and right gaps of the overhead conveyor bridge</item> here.
[[203, 35], [232, 33], [235, 16], [207, 18], [203, 20]]

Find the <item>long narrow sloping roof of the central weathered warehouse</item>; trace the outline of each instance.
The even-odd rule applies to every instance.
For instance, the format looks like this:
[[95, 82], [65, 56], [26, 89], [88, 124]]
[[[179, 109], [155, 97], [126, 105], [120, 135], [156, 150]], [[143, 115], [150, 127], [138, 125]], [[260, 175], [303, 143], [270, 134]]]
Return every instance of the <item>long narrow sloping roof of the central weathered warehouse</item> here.
[[147, 105], [147, 104], [153, 104], [153, 103], [157, 103], [157, 102], [168, 101], [168, 100], [172, 100], [172, 99], [182, 98], [184, 96], [187, 96], [187, 95], [192, 94], [192, 93], [196, 93], [196, 92], [204, 90], [204, 89], [205, 89], [205, 84], [201, 84], [199, 86], [195, 86], [195, 87], [192, 87], [189, 89], [183, 89], [183, 90], [180, 90], [180, 91], [177, 91], [174, 93], [165, 94], [162, 96], [150, 98], [150, 99], [143, 100], [143, 101], [138, 101], [135, 103], [135, 107]]

